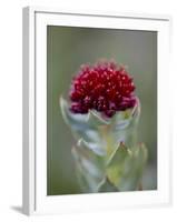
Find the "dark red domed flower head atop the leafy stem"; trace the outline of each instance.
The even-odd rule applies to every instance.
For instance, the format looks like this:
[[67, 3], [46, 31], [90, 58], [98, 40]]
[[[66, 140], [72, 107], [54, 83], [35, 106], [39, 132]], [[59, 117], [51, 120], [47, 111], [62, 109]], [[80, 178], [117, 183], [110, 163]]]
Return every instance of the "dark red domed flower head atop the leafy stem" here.
[[112, 117], [116, 111], [136, 104], [132, 78], [124, 67], [112, 61], [83, 64], [71, 83], [70, 110], [73, 113], [87, 113], [89, 109], [95, 109]]

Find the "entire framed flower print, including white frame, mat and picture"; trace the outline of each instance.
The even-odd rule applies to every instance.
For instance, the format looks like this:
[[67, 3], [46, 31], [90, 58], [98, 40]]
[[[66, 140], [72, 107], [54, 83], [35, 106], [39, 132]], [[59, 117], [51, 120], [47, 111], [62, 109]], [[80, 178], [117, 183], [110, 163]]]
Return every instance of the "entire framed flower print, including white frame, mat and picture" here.
[[23, 212], [170, 203], [167, 16], [23, 9]]

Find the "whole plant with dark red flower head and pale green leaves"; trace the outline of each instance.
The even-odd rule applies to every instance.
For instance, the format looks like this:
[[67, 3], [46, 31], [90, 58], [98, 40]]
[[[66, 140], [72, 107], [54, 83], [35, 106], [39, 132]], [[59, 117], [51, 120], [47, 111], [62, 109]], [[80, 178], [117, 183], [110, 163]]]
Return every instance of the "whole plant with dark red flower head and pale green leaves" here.
[[140, 102], [126, 69], [114, 61], [81, 65], [60, 108], [76, 139], [71, 152], [82, 191], [142, 190], [147, 149], [137, 142]]

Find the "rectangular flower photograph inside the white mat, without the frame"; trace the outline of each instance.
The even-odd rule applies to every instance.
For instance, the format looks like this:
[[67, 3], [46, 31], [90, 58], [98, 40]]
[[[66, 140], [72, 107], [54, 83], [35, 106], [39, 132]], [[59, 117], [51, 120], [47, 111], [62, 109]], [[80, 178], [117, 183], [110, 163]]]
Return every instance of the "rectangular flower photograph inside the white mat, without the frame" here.
[[157, 31], [47, 26], [47, 195], [157, 190]]

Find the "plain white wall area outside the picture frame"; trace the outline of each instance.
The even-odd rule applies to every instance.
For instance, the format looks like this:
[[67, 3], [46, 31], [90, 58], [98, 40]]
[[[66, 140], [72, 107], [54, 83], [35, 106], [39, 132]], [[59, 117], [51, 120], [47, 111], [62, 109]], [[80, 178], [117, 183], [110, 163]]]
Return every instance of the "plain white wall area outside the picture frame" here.
[[[1, 56], [1, 81], [0, 81], [0, 122], [1, 122], [1, 183], [0, 183], [0, 219], [1, 221], [176, 221], [177, 212], [177, 193], [174, 190], [174, 206], [159, 208], [159, 209], [138, 209], [138, 210], [119, 210], [107, 211], [89, 214], [70, 214], [70, 215], [56, 215], [56, 216], [37, 216], [28, 219], [14, 209], [21, 205], [21, 7], [27, 4], [46, 4], [57, 6], [61, 8], [69, 7], [70, 9], [97, 9], [97, 10], [114, 10], [118, 11], [136, 11], [136, 12], [150, 12], [150, 13], [170, 13], [174, 17], [174, 33], [173, 39], [177, 39], [177, 14], [176, 14], [176, 0], [165, 1], [117, 1], [109, 0], [102, 3], [100, 0], [90, 1], [55, 1], [50, 0], [27, 0], [12, 1], [6, 0], [1, 2], [1, 41], [0, 41], [0, 56]], [[10, 29], [11, 27], [11, 29]], [[6, 30], [6, 31], [4, 31]], [[13, 30], [13, 31], [12, 31]], [[9, 37], [12, 37], [12, 41]], [[8, 48], [7, 48], [8, 46]], [[10, 51], [10, 56], [9, 56]], [[173, 43], [173, 72], [170, 78], [170, 85], [173, 95], [170, 101], [174, 101], [174, 113], [177, 112], [176, 94], [177, 94], [177, 42]], [[168, 74], [168, 73], [167, 73]], [[11, 90], [7, 90], [7, 85]], [[168, 108], [167, 108], [168, 109]], [[173, 119], [173, 130], [177, 131], [177, 117]], [[10, 137], [9, 137], [9, 133]], [[177, 147], [177, 140], [174, 138], [174, 144]], [[177, 151], [174, 149], [174, 160], [177, 157]], [[7, 161], [8, 160], [8, 161]], [[9, 164], [7, 163], [9, 162]], [[174, 161], [174, 169], [177, 169], [177, 162]], [[173, 186], [177, 186], [177, 173], [174, 173]]]

